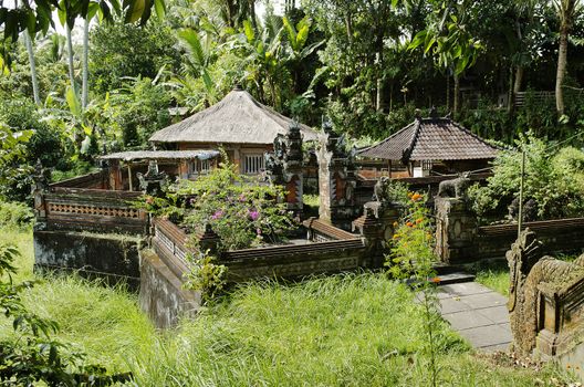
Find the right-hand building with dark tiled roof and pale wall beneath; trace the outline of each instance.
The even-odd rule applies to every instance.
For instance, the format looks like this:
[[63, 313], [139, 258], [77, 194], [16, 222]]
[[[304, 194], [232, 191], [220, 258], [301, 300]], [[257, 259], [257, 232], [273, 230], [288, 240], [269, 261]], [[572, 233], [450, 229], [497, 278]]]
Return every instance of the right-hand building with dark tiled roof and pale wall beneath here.
[[[456, 174], [489, 167], [499, 149], [448, 117], [416, 117], [386, 139], [361, 149], [363, 158], [386, 160], [392, 169], [406, 169], [406, 176]], [[396, 168], [397, 167], [397, 168]]]

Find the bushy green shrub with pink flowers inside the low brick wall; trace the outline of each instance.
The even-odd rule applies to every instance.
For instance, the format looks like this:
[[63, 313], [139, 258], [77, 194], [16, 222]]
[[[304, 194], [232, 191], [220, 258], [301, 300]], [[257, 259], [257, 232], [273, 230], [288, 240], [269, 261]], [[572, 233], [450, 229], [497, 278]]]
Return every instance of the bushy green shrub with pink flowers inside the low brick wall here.
[[237, 174], [225, 163], [195, 181], [180, 180], [166, 188], [165, 197], [144, 196], [136, 207], [168, 217], [188, 231], [211, 226], [220, 238], [219, 250], [237, 250], [275, 242], [294, 222], [280, 186]]

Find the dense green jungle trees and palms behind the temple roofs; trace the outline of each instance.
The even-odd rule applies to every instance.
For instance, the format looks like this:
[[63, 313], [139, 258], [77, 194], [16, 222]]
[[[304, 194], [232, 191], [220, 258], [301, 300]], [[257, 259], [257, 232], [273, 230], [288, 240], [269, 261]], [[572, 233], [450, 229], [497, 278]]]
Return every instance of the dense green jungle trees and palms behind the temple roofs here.
[[[158, 17], [145, 25], [139, 14], [102, 20], [92, 6], [84, 29], [71, 9], [54, 18], [75, 22], [65, 36], [48, 29], [11, 41], [0, 21], [0, 54], [10, 59], [2, 138], [30, 137], [0, 159], [0, 196], [25, 198], [39, 158], [60, 178], [91, 169], [103, 151], [148, 147], [153, 132], [184, 117], [169, 108], [195, 113], [237, 83], [306, 124], [328, 115], [363, 144], [432, 105], [508, 144], [528, 129], [563, 139], [584, 118], [581, 1], [155, 3]], [[515, 92], [526, 92], [521, 104]]]

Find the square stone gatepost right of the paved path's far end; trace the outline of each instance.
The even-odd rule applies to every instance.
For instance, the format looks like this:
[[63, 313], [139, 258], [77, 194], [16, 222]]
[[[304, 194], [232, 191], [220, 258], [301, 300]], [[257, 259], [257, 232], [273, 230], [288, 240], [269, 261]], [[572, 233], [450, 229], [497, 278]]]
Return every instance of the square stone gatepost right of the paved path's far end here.
[[477, 217], [465, 198], [436, 197], [436, 255], [442, 262], [472, 260], [477, 251]]

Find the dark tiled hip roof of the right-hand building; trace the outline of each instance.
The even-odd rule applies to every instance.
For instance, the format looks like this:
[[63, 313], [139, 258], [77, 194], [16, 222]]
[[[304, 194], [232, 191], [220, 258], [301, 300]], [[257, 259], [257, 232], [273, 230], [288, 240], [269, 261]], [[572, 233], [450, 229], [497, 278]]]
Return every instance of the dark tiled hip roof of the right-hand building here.
[[401, 130], [358, 151], [359, 156], [401, 160], [494, 158], [498, 148], [450, 118], [416, 118]]

